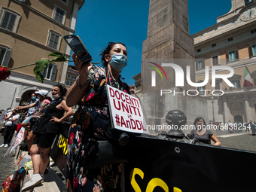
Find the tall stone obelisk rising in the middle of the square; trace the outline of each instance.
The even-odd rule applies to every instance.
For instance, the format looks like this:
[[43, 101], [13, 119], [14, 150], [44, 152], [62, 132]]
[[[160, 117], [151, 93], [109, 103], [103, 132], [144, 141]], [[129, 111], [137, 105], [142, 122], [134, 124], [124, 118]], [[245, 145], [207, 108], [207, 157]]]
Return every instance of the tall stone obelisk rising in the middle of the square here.
[[[172, 67], [160, 70], [156, 66], [161, 66], [163, 62], [181, 66], [184, 87], [175, 87], [175, 71]], [[189, 35], [187, 0], [151, 0], [147, 39], [142, 48], [142, 100], [150, 126], [166, 124], [166, 114], [174, 109], [183, 111], [191, 124], [195, 116], [200, 116], [197, 109], [207, 108], [206, 100], [201, 96], [187, 96], [187, 90], [197, 88], [187, 84], [186, 66], [190, 66], [190, 79], [195, 82], [194, 39]], [[155, 75], [155, 87], [151, 84], [154, 69], [159, 69]], [[166, 76], [160, 77], [163, 72]], [[172, 93], [161, 96], [160, 90], [170, 90]], [[173, 91], [178, 94], [174, 96]], [[153, 132], [159, 133], [157, 130]]]

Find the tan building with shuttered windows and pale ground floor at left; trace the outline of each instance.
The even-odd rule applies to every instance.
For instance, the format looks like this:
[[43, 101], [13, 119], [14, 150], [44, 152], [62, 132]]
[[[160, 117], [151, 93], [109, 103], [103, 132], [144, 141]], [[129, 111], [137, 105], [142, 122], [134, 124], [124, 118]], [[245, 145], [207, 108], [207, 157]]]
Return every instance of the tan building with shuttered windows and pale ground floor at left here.
[[[53, 59], [48, 53], [70, 57], [62, 36], [75, 33], [79, 9], [84, 0], [2, 0], [0, 2], [0, 62], [10, 69]], [[14, 69], [0, 84], [0, 108], [9, 109], [29, 99], [35, 90], [50, 90], [65, 84], [68, 62], [56, 62], [44, 71], [44, 83], [36, 80], [35, 66]]]

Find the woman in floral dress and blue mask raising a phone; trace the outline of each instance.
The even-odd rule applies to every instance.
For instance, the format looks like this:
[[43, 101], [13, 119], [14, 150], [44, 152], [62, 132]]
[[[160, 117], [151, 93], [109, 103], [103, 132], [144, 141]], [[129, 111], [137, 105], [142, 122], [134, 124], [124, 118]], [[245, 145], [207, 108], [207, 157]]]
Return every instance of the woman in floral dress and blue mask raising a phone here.
[[103, 68], [83, 63], [75, 53], [72, 58], [79, 75], [70, 87], [66, 103], [79, 104], [69, 130], [66, 187], [71, 191], [120, 191], [121, 164], [87, 170], [87, 144], [93, 137], [105, 137], [109, 126], [107, 84], [130, 93], [126, 83], [120, 81], [120, 72], [127, 65], [127, 50], [122, 43], [108, 43], [100, 54]]

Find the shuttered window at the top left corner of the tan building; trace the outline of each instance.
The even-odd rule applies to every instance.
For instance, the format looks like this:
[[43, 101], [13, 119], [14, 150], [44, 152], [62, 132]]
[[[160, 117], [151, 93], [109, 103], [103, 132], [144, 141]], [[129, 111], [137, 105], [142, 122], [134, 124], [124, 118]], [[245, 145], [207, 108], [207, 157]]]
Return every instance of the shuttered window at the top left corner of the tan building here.
[[20, 14], [2, 7], [0, 11], [0, 21], [1, 28], [11, 32], [17, 32], [17, 27], [20, 22]]

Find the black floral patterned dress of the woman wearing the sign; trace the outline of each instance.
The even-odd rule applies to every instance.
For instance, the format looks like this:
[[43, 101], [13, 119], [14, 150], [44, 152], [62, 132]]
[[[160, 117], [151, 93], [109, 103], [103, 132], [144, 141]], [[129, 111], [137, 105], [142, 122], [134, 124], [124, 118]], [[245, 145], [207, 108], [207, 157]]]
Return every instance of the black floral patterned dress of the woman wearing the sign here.
[[[109, 73], [110, 74], [110, 73]], [[127, 84], [114, 81], [111, 75], [108, 84], [130, 93]], [[66, 167], [66, 190], [120, 191], [122, 164], [113, 164], [87, 170], [87, 144], [93, 136], [104, 136], [108, 126], [108, 97], [105, 70], [92, 66], [87, 78], [87, 87], [69, 129], [69, 146]]]

